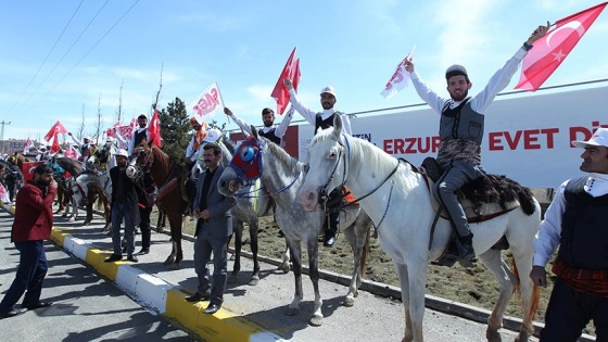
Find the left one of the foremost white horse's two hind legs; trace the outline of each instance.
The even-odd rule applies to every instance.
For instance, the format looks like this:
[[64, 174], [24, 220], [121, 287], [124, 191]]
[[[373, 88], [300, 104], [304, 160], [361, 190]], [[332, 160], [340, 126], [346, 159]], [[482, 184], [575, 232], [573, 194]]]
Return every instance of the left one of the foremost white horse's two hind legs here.
[[[492, 309], [492, 314], [487, 318], [485, 338], [491, 342], [499, 342], [502, 338], [498, 330], [503, 328], [503, 317], [515, 291], [515, 276], [503, 261], [499, 250], [487, 250], [479, 255], [479, 259], [498, 282], [499, 294]], [[530, 265], [532, 265], [531, 261]]]

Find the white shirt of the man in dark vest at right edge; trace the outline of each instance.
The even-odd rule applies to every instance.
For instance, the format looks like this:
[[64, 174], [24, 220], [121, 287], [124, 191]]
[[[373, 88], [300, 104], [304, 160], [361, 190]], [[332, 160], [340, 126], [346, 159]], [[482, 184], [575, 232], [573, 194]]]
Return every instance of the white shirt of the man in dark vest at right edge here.
[[[558, 189], [557, 194], [552, 201], [552, 204], [545, 213], [545, 219], [541, 223], [541, 228], [536, 233], [534, 240], [534, 266], [545, 266], [553, 253], [559, 245], [559, 238], [561, 236], [561, 218], [566, 211], [566, 199], [563, 190], [568, 186], [567, 180]], [[594, 198], [605, 195], [608, 193], [608, 175], [606, 174], [590, 174], [584, 190], [586, 193]]]

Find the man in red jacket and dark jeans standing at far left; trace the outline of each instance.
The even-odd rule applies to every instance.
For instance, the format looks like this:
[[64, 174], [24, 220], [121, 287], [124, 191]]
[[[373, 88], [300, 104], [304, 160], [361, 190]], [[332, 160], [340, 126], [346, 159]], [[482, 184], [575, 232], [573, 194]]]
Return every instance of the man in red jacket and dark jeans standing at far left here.
[[[15, 280], [0, 302], [0, 319], [52, 304], [40, 302], [40, 292], [48, 269], [42, 242], [51, 237], [55, 194], [53, 169], [48, 165], [36, 166], [34, 179], [17, 192], [11, 241], [20, 251], [20, 265]], [[14, 305], [24, 293], [22, 307], [16, 308]]]

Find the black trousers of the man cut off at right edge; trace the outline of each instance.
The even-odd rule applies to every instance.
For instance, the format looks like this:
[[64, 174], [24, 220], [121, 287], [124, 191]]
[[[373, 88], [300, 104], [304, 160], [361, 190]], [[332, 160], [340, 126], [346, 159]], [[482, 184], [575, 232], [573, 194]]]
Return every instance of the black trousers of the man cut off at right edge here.
[[593, 319], [597, 342], [608, 341], [608, 299], [572, 290], [557, 278], [541, 342], [575, 342]]

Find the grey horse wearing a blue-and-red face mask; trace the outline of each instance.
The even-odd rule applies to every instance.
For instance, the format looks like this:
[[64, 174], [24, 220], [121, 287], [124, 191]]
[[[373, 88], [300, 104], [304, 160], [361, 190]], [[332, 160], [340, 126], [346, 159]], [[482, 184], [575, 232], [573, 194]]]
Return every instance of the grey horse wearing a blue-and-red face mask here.
[[[276, 218], [291, 250], [295, 293], [287, 314], [296, 315], [304, 297], [302, 291], [302, 243], [308, 252], [309, 278], [315, 291], [315, 312], [309, 320], [312, 326], [322, 324], [322, 300], [319, 292], [318, 237], [324, 227], [325, 212], [307, 212], [296, 201], [296, 192], [305, 174], [304, 165], [290, 156], [283, 149], [252, 129], [253, 139], [245, 140], [235, 152], [230, 167], [225, 168], [217, 187], [225, 195], [241, 191], [248, 180], [259, 177], [266, 190], [277, 204]], [[264, 169], [262, 169], [262, 166]], [[242, 167], [243, 166], [243, 167]], [[250, 167], [251, 166], [251, 167]], [[344, 301], [345, 306], [354, 304], [362, 281], [367, 257], [367, 242], [370, 219], [358, 206], [347, 205], [340, 211], [340, 227], [353, 249], [354, 269]]]

